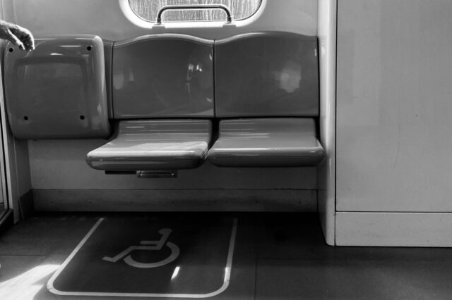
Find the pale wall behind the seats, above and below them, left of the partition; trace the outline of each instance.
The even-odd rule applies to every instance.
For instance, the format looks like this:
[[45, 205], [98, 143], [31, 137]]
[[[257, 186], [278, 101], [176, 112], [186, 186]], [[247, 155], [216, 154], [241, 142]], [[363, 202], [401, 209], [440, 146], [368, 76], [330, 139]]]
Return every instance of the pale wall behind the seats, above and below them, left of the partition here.
[[[261, 30], [316, 35], [318, 22], [316, 0], [286, 0], [284, 6], [263, 0], [258, 13], [236, 26], [179, 24], [165, 30], [136, 18], [126, 0], [4, 0], [1, 4], [5, 20], [27, 27], [36, 38], [88, 33], [123, 40], [179, 32], [212, 39]], [[177, 178], [138, 179], [105, 175], [86, 164], [85, 155], [105, 144], [103, 139], [23, 141], [5, 133], [11, 149], [6, 160], [12, 198], [32, 191], [37, 210], [317, 211], [315, 167], [218, 168], [206, 162], [201, 168], [179, 170]], [[13, 201], [12, 206], [19, 204]], [[15, 213], [18, 218], [18, 209]]]

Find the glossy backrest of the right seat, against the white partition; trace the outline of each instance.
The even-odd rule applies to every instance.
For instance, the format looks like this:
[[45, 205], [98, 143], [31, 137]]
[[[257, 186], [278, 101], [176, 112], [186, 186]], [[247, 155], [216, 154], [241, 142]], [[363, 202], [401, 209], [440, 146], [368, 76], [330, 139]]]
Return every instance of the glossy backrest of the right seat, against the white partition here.
[[319, 115], [317, 38], [254, 32], [215, 41], [215, 113]]

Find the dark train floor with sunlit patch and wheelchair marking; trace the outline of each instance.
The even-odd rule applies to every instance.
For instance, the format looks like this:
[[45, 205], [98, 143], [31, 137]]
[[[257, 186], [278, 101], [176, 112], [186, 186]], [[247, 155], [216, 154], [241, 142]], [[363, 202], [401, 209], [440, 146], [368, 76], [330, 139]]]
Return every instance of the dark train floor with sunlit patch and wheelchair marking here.
[[452, 299], [452, 249], [331, 247], [314, 213], [44, 213], [0, 263], [2, 300]]

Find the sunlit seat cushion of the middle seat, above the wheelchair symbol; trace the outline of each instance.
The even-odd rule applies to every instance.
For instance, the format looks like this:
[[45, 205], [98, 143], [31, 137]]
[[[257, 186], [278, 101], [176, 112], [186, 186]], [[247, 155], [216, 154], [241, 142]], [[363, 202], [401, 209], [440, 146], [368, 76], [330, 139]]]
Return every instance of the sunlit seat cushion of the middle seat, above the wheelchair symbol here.
[[196, 168], [206, 160], [210, 120], [128, 120], [115, 139], [90, 151], [88, 165], [113, 172]]

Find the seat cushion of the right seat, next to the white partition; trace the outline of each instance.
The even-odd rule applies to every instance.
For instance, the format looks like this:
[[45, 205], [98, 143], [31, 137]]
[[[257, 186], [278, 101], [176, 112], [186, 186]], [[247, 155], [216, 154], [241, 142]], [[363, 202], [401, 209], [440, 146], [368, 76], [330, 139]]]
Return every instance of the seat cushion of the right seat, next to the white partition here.
[[299, 167], [316, 165], [325, 150], [311, 118], [222, 120], [208, 159], [220, 167]]

